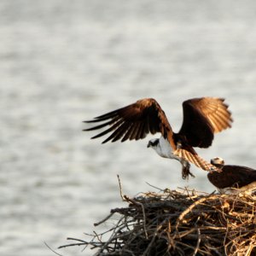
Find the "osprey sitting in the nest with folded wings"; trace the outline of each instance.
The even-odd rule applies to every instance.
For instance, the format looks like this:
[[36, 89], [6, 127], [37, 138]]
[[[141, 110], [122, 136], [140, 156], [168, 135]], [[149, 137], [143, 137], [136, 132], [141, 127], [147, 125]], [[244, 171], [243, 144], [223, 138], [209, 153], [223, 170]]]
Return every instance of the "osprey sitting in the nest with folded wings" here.
[[237, 194], [256, 189], [256, 170], [246, 166], [224, 165], [220, 157], [213, 158], [211, 164], [221, 169], [221, 172], [209, 172], [207, 177], [221, 193]]

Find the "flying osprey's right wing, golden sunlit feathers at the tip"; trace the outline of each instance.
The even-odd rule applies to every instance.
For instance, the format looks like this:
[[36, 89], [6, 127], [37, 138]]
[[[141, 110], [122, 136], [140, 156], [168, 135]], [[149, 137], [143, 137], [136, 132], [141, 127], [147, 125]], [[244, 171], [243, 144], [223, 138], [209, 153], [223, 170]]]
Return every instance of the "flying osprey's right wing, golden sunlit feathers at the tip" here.
[[178, 132], [192, 147], [208, 148], [214, 133], [231, 127], [231, 113], [222, 98], [202, 97], [183, 102], [183, 125]]

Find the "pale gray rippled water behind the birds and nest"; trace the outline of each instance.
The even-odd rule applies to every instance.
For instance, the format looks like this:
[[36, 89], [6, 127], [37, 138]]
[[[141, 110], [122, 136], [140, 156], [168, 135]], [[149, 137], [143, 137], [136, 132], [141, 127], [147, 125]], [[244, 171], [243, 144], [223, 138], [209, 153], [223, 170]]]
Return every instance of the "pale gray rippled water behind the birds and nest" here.
[[[206, 172], [161, 159], [140, 142], [107, 143], [84, 119], [154, 97], [174, 131], [182, 102], [226, 98], [232, 129], [197, 150], [256, 167], [255, 1], [2, 0], [0, 2], [0, 254], [57, 250], [130, 196], [155, 189], [212, 192]], [[149, 137], [148, 137], [149, 138]], [[108, 221], [109, 226], [114, 219]]]

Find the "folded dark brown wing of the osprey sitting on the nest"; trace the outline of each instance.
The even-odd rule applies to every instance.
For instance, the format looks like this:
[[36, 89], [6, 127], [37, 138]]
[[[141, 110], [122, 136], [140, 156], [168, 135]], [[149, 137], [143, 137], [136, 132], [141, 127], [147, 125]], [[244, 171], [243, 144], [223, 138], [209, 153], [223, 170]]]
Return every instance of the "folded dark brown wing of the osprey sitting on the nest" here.
[[239, 189], [256, 181], [256, 171], [245, 166], [224, 166], [222, 172], [209, 172], [207, 177], [218, 189]]

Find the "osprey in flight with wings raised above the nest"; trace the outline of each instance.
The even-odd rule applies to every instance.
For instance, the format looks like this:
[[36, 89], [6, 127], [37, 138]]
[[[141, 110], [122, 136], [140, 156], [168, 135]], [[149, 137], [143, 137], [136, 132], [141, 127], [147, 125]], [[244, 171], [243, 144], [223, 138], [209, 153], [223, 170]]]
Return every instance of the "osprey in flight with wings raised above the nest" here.
[[[104, 122], [105, 121], [105, 122]], [[143, 139], [148, 133], [161, 133], [160, 138], [148, 142], [148, 148], [154, 148], [162, 157], [178, 160], [183, 166], [183, 178], [189, 177], [189, 162], [206, 171], [217, 171], [196, 154], [193, 147], [208, 148], [212, 145], [214, 133], [231, 127], [231, 113], [224, 99], [201, 97], [183, 102], [183, 125], [177, 133], [166, 118], [165, 112], [153, 98], [138, 100], [124, 108], [102, 114], [85, 123], [104, 122], [84, 131], [93, 131], [110, 126], [95, 137], [111, 135], [102, 143], [108, 141], [125, 142], [127, 139]]]

